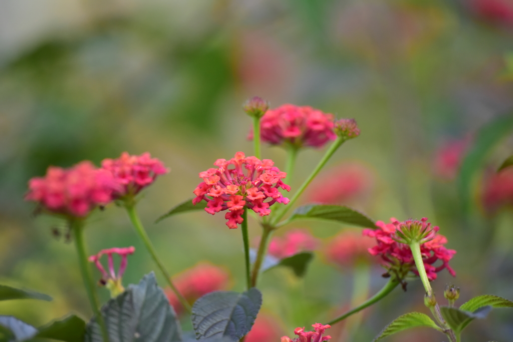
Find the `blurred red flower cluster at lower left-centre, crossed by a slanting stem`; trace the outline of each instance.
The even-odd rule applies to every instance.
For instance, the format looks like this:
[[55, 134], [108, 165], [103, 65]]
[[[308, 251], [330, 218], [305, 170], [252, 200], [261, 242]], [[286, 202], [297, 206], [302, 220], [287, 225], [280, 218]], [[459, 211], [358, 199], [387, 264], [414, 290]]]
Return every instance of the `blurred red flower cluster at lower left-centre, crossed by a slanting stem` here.
[[[185, 299], [192, 304], [204, 294], [226, 290], [229, 279], [229, 274], [221, 267], [200, 263], [173, 277], [173, 283]], [[165, 292], [169, 304], [173, 306], [176, 313], [181, 313], [183, 307], [176, 294], [171, 289], [166, 289]]]

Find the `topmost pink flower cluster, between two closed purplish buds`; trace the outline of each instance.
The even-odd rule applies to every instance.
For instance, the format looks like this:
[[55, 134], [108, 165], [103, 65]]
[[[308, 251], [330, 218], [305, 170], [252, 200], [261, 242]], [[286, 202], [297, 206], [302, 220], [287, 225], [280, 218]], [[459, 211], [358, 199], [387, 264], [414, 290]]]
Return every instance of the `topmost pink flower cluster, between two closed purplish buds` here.
[[[261, 119], [262, 141], [271, 145], [322, 147], [337, 135], [333, 114], [308, 106], [282, 105], [268, 110]], [[249, 138], [252, 139], [250, 132]]]

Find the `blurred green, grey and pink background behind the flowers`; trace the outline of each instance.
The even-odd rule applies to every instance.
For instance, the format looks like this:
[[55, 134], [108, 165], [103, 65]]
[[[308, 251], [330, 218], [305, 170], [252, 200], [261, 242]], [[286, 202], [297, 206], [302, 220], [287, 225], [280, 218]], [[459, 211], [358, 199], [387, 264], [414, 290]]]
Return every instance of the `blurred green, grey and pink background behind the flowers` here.
[[[452, 283], [460, 304], [478, 294], [513, 299], [513, 185], [507, 175], [494, 178], [513, 147], [512, 51], [511, 0], [0, 0], [0, 282], [54, 298], [4, 301], [0, 313], [36, 326], [69, 311], [89, 317], [73, 245], [52, 234], [65, 232], [64, 223], [34, 217], [23, 198], [27, 180], [49, 165], [99, 165], [122, 151], [149, 151], [171, 168], [139, 205], [170, 272], [208, 260], [242, 290], [242, 239], [223, 215], [153, 222], [192, 197], [198, 172], [215, 159], [252, 153], [241, 104], [253, 95], [272, 107], [310, 105], [357, 119], [361, 136], [321, 178], [356, 168], [337, 186], [360, 185], [342, 189], [339, 202], [374, 219], [427, 216], [440, 226], [458, 251], [457, 277], [443, 271], [433, 282], [440, 301]], [[292, 190], [322, 153], [300, 154]], [[282, 149], [264, 147], [263, 155], [285, 167]], [[325, 187], [315, 183], [303, 202]], [[293, 228], [320, 244], [304, 279], [285, 269], [263, 277], [263, 314], [274, 325], [264, 330], [278, 336], [269, 341], [347, 307], [357, 273], [329, 265], [323, 252], [350, 227], [302, 222], [277, 235]], [[260, 234], [252, 219], [250, 234]], [[154, 269], [120, 208], [90, 217], [87, 239], [91, 254], [135, 246], [125, 284]], [[371, 268], [369, 293], [385, 283], [381, 273]], [[428, 312], [420, 281], [367, 310], [351, 339], [341, 327], [331, 335], [370, 341], [413, 310]], [[506, 309], [463, 333], [469, 342], [511, 336]], [[388, 340], [444, 338], [417, 329]]]

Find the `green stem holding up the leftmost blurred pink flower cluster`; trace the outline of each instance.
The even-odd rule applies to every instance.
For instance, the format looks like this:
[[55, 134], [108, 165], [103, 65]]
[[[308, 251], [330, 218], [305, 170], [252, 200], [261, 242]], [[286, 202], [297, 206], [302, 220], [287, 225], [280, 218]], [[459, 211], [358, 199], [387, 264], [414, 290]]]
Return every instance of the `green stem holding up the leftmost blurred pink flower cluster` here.
[[89, 262], [87, 260], [86, 243], [84, 241], [84, 224], [81, 220], [75, 219], [71, 220], [70, 226], [75, 238], [75, 247], [78, 254], [78, 265], [80, 266], [80, 272], [82, 273], [82, 278], [84, 279], [84, 285], [86, 286], [89, 303], [93, 309], [96, 321], [98, 322], [98, 325], [100, 325], [103, 340], [104, 342], [108, 342], [109, 334], [107, 333], [107, 326], [105, 325], [105, 320], [103, 319], [102, 313], [100, 312], [100, 308], [98, 306], [98, 297], [96, 295], [95, 284], [91, 275], [91, 269], [89, 268]]

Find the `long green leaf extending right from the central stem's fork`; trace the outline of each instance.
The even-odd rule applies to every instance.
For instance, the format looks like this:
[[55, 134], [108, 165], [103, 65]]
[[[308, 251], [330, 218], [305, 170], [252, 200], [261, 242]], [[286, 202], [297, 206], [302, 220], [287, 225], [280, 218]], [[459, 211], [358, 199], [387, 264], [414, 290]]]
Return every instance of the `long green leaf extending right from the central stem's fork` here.
[[372, 219], [365, 214], [346, 206], [336, 205], [306, 205], [297, 208], [289, 220], [295, 219], [325, 219], [354, 226], [375, 228]]

